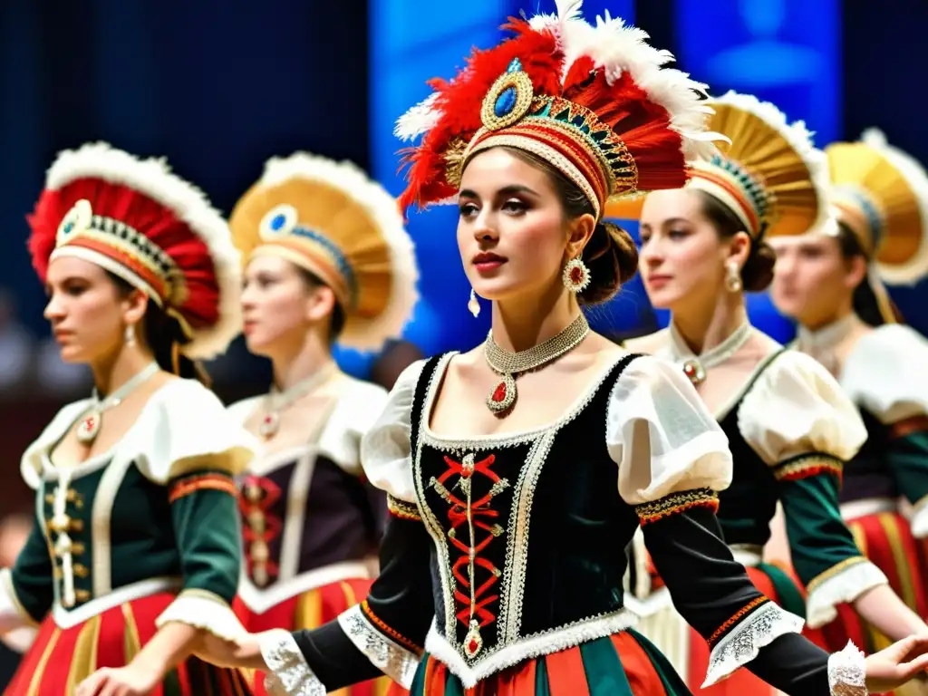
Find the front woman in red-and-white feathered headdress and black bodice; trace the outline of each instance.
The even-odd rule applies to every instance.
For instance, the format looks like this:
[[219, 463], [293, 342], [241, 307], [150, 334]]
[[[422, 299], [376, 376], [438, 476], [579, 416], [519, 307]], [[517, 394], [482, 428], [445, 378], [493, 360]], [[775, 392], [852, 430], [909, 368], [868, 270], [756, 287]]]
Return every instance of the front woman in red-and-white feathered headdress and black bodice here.
[[[682, 186], [702, 109], [701, 85], [661, 69], [641, 32], [591, 27], [577, 6], [513, 20], [515, 38], [402, 123], [426, 134], [401, 202], [458, 194], [458, 247], [493, 330], [407, 368], [365, 439], [365, 470], [392, 501], [380, 576], [337, 622], [206, 639], [209, 659], [266, 665], [290, 694], [379, 670], [428, 696], [687, 693], [622, 608], [624, 546], [643, 523], [713, 642], [709, 681], [754, 658], [784, 690], [829, 693], [828, 655], [719, 539], [731, 459], [692, 385], [591, 333], [580, 310], [636, 268], [628, 235], [600, 222], [606, 200]], [[898, 652], [917, 642], [870, 664], [832, 656], [832, 688], [909, 677], [922, 658], [900, 666]]]

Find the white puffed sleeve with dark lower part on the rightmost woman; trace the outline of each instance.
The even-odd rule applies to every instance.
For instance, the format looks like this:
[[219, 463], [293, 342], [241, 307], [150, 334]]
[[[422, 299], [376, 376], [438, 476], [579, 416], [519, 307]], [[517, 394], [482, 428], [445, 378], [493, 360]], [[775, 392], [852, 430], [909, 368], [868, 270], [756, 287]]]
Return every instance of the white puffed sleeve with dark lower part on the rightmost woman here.
[[873, 329], [844, 361], [844, 389], [886, 427], [883, 458], [913, 506], [912, 534], [928, 536], [928, 341], [900, 324]]

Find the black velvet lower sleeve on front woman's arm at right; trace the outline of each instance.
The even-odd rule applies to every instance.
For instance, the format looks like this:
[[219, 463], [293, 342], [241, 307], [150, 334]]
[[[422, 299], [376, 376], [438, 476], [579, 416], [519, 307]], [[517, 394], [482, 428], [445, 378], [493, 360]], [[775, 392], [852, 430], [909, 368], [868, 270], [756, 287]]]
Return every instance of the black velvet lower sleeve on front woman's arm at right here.
[[[715, 648], [724, 638], [759, 620], [759, 612], [769, 616], [776, 610], [732, 558], [715, 519], [716, 508], [715, 493], [697, 489], [637, 509], [645, 544], [674, 606], [709, 642], [717, 658]], [[830, 692], [828, 653], [797, 633], [776, 638], [741, 666], [793, 696]]]

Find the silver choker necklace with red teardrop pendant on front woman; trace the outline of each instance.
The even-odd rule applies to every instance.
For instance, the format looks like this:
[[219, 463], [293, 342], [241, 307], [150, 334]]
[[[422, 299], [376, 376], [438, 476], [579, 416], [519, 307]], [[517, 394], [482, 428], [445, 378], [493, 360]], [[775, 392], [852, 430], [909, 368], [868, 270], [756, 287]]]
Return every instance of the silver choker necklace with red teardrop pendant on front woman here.
[[515, 406], [518, 391], [516, 376], [547, 365], [561, 355], [574, 350], [589, 333], [586, 316], [578, 315], [561, 333], [548, 341], [527, 350], [512, 353], [499, 347], [493, 338], [493, 329], [483, 342], [483, 355], [487, 365], [502, 377], [486, 397], [486, 406], [497, 416], [506, 416]]

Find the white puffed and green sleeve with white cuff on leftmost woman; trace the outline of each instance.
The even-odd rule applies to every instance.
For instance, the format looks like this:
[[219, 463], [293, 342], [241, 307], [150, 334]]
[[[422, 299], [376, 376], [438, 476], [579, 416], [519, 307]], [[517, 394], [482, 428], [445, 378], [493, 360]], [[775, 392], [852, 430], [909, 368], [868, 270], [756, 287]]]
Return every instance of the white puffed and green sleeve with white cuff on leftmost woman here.
[[241, 563], [234, 477], [258, 445], [199, 382], [176, 380], [152, 398], [139, 441], [125, 456], [163, 486], [170, 510], [163, 522], [174, 530], [180, 562], [183, 588], [156, 625], [181, 623], [234, 638], [244, 631], [230, 608]]

